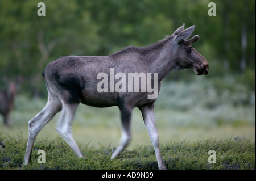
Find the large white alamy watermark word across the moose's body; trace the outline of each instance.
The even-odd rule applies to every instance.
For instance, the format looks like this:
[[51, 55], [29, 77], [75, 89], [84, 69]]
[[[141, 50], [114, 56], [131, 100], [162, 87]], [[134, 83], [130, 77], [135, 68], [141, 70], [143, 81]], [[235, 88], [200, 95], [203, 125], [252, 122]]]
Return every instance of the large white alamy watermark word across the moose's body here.
[[[152, 78], [153, 77], [153, 78]], [[109, 69], [109, 75], [101, 72], [97, 74], [97, 79], [101, 79], [97, 84], [97, 91], [102, 92], [148, 92], [148, 99], [158, 97], [158, 73], [125, 73], [115, 69]], [[115, 83], [115, 80], [119, 80]]]

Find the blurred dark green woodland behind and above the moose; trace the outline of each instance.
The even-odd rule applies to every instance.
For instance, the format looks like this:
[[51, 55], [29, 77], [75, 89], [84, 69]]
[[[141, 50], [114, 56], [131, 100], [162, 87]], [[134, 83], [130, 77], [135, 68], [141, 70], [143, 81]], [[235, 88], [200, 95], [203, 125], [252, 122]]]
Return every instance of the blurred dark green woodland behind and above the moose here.
[[[46, 16], [38, 16], [39, 2]], [[216, 16], [209, 16], [209, 2]], [[0, 1], [0, 77], [22, 75], [22, 90], [46, 96], [41, 73], [71, 54], [106, 56], [128, 45], [144, 46], [196, 25], [195, 48], [209, 76], [239, 74], [255, 82], [255, 1]], [[243, 41], [243, 46], [242, 46]], [[180, 74], [175, 78], [187, 79]], [[2, 82], [2, 81], [1, 81]], [[3, 82], [1, 83], [3, 85]], [[254, 85], [251, 85], [255, 89]]]

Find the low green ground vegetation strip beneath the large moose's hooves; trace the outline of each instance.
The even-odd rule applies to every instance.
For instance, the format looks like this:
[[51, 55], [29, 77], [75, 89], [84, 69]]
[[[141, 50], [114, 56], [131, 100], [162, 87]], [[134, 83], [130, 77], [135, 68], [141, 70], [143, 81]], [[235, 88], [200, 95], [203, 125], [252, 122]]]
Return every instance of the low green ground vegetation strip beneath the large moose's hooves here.
[[[158, 169], [152, 146], [137, 145], [110, 159], [113, 146], [96, 148], [79, 145], [85, 158], [77, 158], [65, 141], [39, 139], [32, 151], [31, 164], [23, 165], [27, 140], [22, 137], [0, 136], [0, 169]], [[160, 146], [167, 169], [255, 169], [255, 142], [242, 137], [232, 140], [168, 142]], [[38, 163], [38, 150], [46, 153], [46, 163]], [[216, 151], [216, 163], [208, 162], [209, 150]]]

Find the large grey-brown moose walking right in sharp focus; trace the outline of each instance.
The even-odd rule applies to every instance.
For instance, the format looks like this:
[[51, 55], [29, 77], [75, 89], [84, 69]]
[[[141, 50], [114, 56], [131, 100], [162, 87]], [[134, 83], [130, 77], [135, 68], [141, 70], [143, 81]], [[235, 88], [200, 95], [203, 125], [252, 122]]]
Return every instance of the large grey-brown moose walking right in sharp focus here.
[[[28, 142], [24, 164], [30, 163], [36, 136], [59, 111], [61, 115], [57, 121], [56, 132], [64, 138], [78, 157], [84, 157], [72, 136], [72, 120], [77, 106], [82, 103], [93, 107], [118, 106], [121, 112], [122, 134], [119, 146], [113, 151], [111, 158], [117, 157], [129, 144], [131, 115], [133, 108], [138, 107], [154, 146], [158, 167], [166, 169], [160, 153], [159, 135], [154, 118], [156, 98], [148, 99], [147, 90], [98, 92], [97, 74], [109, 75], [110, 68], [126, 75], [158, 73], [158, 92], [161, 81], [171, 70], [193, 69], [196, 75], [207, 75], [208, 62], [191, 46], [199, 40], [199, 36], [195, 35], [188, 39], [194, 29], [195, 25], [184, 30], [183, 24], [171, 36], [146, 47], [130, 46], [109, 56], [67, 56], [50, 62], [42, 74], [46, 80], [48, 101], [43, 110], [28, 121]], [[117, 82], [117, 79], [114, 81]]]

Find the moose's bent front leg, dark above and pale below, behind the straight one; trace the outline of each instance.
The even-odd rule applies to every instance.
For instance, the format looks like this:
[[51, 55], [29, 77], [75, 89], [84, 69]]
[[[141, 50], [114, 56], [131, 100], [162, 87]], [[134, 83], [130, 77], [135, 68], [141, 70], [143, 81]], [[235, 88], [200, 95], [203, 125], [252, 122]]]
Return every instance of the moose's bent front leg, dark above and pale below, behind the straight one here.
[[117, 157], [129, 144], [131, 140], [131, 110], [120, 109], [122, 119], [122, 136], [118, 148], [114, 151], [111, 158]]

